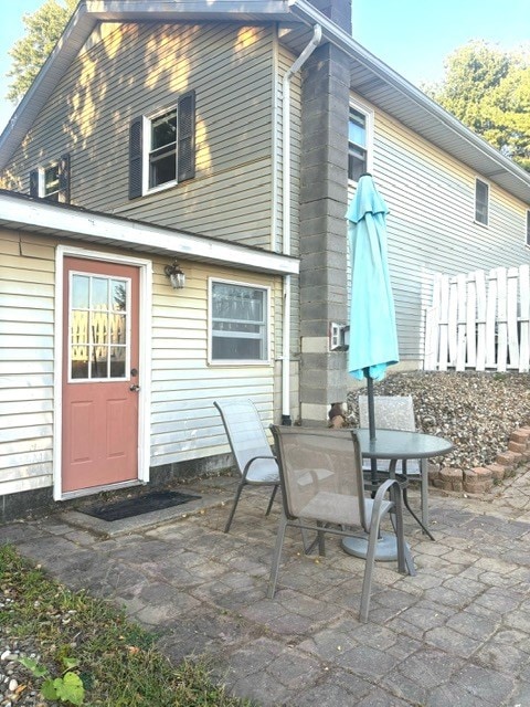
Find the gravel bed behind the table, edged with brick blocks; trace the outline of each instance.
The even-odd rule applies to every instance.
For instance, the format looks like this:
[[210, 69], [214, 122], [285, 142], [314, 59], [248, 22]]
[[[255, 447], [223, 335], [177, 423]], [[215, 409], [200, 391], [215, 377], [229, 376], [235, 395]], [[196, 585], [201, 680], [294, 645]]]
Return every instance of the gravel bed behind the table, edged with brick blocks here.
[[[358, 423], [357, 397], [348, 397], [348, 422]], [[478, 372], [386, 373], [375, 395], [412, 395], [416, 428], [447, 437], [455, 450], [444, 464], [483, 466], [508, 449], [510, 433], [530, 423], [530, 374]]]

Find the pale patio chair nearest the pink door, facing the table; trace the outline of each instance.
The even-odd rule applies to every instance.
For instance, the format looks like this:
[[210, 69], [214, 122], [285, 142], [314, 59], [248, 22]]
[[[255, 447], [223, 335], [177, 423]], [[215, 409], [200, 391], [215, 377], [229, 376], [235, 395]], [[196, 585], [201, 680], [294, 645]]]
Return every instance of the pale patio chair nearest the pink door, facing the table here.
[[216, 400], [213, 404], [221, 414], [230, 449], [241, 475], [232, 510], [224, 528], [224, 532], [229, 532], [241, 492], [245, 486], [273, 486], [265, 514], [268, 516], [279, 485], [278, 464], [271, 450], [259, 413], [252, 400]]

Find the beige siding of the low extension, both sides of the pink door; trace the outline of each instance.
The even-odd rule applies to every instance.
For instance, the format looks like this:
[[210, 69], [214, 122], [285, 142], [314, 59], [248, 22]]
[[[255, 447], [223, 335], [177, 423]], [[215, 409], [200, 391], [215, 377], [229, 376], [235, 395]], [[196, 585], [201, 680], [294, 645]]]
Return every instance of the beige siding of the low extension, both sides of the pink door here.
[[[57, 242], [10, 231], [0, 236], [1, 496], [52, 485]], [[187, 284], [174, 291], [163, 274], [167, 262], [153, 263], [152, 331], [146, 333], [152, 341], [152, 466], [229, 452], [215, 398], [252, 398], [265, 423], [273, 422], [275, 402], [274, 330], [279, 327], [282, 278], [179, 260]], [[268, 363], [208, 365], [209, 277], [271, 288]]]

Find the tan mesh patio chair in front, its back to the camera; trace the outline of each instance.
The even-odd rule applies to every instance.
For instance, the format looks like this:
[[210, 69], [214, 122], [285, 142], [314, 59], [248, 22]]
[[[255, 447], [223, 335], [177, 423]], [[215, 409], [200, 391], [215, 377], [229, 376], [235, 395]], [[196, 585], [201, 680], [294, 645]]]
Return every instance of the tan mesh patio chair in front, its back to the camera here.
[[[356, 433], [272, 425], [279, 464], [283, 513], [267, 595], [274, 598], [287, 526], [316, 530], [320, 555], [325, 534], [368, 532], [368, 552], [359, 618], [368, 621], [375, 544], [381, 519], [390, 514], [398, 538], [398, 569], [407, 571], [401, 487], [386, 479], [373, 499], [364, 496], [362, 460]], [[388, 494], [391, 498], [386, 498]]]

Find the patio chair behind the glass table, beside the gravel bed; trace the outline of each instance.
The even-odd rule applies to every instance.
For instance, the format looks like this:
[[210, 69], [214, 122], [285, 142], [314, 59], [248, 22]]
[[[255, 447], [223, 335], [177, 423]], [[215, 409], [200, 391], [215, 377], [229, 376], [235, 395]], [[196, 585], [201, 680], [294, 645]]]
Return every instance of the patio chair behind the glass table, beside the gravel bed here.
[[[416, 423], [414, 420], [414, 402], [412, 395], [375, 395], [373, 399], [375, 428], [380, 430], [402, 430], [404, 432], [415, 432]], [[368, 429], [368, 397], [359, 395], [359, 426]], [[378, 472], [388, 474], [390, 462], [388, 460], [378, 460]], [[364, 469], [370, 469], [370, 461], [364, 462]], [[418, 478], [421, 488], [421, 511], [422, 523], [420, 525], [428, 537], [434, 540], [433, 535], [428, 530], [428, 467], [427, 460], [412, 460], [406, 462], [403, 467], [401, 461], [395, 466], [398, 474], [403, 474], [406, 478]], [[418, 520], [415, 513], [409, 506], [406, 492], [404, 493], [404, 503], [407, 510]]]

